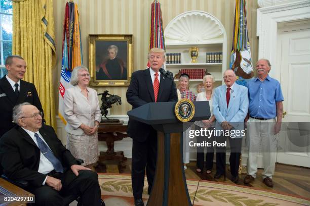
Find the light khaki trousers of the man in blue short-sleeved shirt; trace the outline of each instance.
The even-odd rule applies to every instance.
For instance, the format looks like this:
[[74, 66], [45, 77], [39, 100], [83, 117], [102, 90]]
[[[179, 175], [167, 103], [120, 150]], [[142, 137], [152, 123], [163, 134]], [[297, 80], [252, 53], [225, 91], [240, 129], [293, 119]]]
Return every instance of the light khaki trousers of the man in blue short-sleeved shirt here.
[[256, 178], [257, 173], [257, 153], [260, 151], [260, 145], [263, 155], [264, 172], [263, 178], [272, 178], [275, 173], [275, 164], [277, 158], [277, 135], [274, 135], [276, 119], [257, 120], [249, 118], [247, 124], [247, 145], [249, 146], [249, 155], [247, 161], [248, 174]]

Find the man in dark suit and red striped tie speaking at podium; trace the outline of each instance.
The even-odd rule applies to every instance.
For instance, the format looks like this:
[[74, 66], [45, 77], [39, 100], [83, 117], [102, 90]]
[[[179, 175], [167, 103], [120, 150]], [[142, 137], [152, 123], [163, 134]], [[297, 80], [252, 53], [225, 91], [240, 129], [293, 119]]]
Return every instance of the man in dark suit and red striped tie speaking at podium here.
[[[177, 101], [177, 90], [173, 79], [160, 72], [165, 62], [165, 50], [152, 48], [148, 52], [150, 68], [132, 74], [126, 97], [132, 109], [149, 102]], [[135, 205], [144, 205], [142, 192], [144, 174], [150, 194], [157, 161], [157, 131], [152, 126], [129, 119], [127, 133], [133, 139], [132, 145], [132, 188]]]

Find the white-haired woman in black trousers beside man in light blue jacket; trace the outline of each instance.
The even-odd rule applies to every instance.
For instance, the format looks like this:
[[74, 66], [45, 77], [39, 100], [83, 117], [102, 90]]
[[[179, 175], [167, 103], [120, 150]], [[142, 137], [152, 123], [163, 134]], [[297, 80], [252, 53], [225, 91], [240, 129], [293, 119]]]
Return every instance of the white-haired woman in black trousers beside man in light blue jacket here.
[[[212, 94], [213, 94], [213, 84], [214, 84], [214, 77], [212, 75], [206, 75], [203, 78], [203, 84], [205, 86], [205, 90], [197, 94], [196, 101], [209, 101], [210, 113], [211, 117], [208, 120], [196, 121], [195, 122], [195, 129], [200, 130], [201, 128], [213, 129], [212, 123], [215, 121], [215, 117], [212, 113]], [[207, 138], [205, 136], [196, 136], [197, 142], [211, 142], [214, 140], [214, 136], [211, 138]], [[204, 147], [197, 147], [197, 162], [196, 166], [197, 172], [202, 172], [204, 165], [206, 166], [206, 173], [210, 174], [212, 167], [213, 167], [213, 155], [214, 155], [214, 147], [207, 147], [206, 153], [206, 162], [204, 161]], [[205, 163], [205, 164], [204, 164]]]

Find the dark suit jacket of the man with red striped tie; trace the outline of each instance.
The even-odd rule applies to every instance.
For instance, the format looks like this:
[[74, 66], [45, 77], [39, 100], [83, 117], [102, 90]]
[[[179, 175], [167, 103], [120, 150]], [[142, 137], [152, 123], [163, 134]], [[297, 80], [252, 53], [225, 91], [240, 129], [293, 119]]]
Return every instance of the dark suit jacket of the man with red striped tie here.
[[[149, 68], [132, 73], [131, 82], [126, 93], [127, 101], [132, 109], [149, 102], [154, 102], [154, 89]], [[157, 102], [177, 101], [177, 90], [173, 79], [164, 78], [161, 74]], [[130, 137], [143, 142], [154, 129], [147, 124], [129, 118], [127, 133]]]

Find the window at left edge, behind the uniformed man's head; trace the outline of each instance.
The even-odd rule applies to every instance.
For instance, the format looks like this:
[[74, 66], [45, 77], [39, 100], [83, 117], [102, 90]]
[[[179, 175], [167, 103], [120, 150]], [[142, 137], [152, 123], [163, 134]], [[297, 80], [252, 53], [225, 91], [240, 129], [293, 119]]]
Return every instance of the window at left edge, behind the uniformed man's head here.
[[10, 0], [0, 0], [0, 78], [5, 69], [6, 58], [12, 55], [13, 8]]

